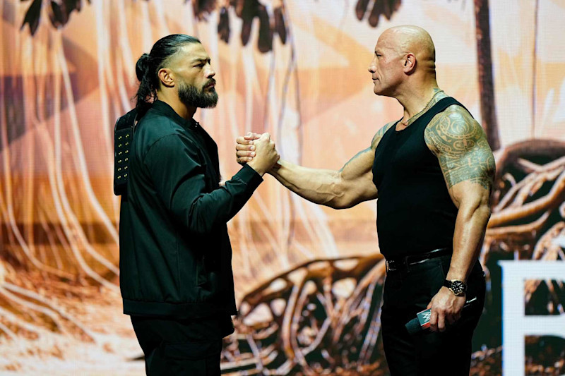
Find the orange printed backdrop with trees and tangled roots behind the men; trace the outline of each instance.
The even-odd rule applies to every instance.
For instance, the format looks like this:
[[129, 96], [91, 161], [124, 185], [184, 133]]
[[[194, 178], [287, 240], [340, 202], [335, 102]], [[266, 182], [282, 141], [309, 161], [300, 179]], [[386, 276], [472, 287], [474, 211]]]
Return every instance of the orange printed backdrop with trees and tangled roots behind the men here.
[[[284, 159], [323, 169], [368, 147], [402, 116], [373, 94], [367, 67], [380, 33], [403, 24], [430, 32], [439, 85], [495, 150], [480, 257], [489, 291], [471, 374], [501, 375], [504, 346], [525, 346], [527, 375], [565, 372], [560, 336], [503, 346], [498, 264], [565, 259], [563, 0], [0, 0], [0, 9], [1, 372], [143, 375], [119, 297], [113, 126], [156, 40], [186, 33], [208, 50], [220, 102], [196, 119], [230, 178], [234, 140], [248, 131], [270, 132]], [[265, 180], [229, 224], [242, 315], [223, 372], [388, 375], [376, 202], [331, 210]], [[521, 314], [564, 315], [563, 280], [528, 280], [523, 298]]]

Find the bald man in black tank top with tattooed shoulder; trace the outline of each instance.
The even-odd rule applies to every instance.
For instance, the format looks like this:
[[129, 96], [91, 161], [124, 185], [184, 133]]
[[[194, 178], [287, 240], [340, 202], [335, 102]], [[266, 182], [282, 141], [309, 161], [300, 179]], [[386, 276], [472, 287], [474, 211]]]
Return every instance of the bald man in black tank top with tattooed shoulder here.
[[[338, 171], [280, 160], [269, 173], [335, 209], [379, 199], [376, 225], [387, 265], [381, 324], [391, 375], [467, 376], [484, 304], [477, 258], [490, 216], [492, 151], [480, 124], [439, 89], [434, 43], [422, 28], [383, 32], [369, 72], [376, 95], [402, 104], [402, 119], [383, 126]], [[254, 158], [256, 138], [237, 139], [239, 163]], [[465, 301], [472, 303], [463, 310]], [[409, 334], [405, 323], [427, 308], [431, 331]]]

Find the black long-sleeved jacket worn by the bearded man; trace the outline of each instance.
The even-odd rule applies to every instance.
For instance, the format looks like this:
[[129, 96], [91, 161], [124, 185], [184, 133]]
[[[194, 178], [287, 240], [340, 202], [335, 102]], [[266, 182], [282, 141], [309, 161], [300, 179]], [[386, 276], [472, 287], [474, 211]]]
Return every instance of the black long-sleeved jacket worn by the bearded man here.
[[263, 181], [244, 166], [220, 187], [218, 147], [157, 101], [133, 133], [120, 208], [124, 313], [237, 314], [229, 221]]

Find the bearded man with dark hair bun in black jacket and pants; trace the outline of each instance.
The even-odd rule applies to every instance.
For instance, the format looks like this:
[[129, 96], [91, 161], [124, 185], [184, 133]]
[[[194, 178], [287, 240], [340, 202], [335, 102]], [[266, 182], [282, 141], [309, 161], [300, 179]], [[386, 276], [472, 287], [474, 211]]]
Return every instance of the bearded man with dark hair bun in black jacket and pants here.
[[136, 64], [139, 119], [120, 208], [124, 313], [148, 375], [220, 375], [222, 337], [237, 315], [229, 221], [278, 161], [266, 134], [256, 157], [220, 186], [218, 147], [194, 121], [215, 107], [215, 72], [200, 41], [158, 40]]

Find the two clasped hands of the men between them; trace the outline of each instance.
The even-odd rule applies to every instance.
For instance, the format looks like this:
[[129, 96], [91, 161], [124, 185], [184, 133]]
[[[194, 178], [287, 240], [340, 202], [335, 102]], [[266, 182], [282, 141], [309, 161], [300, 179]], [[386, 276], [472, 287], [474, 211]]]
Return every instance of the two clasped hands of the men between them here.
[[275, 141], [270, 139], [269, 133], [247, 133], [238, 137], [236, 142], [237, 163], [248, 164], [261, 176], [273, 169], [280, 159]]

